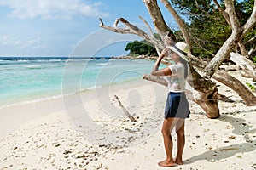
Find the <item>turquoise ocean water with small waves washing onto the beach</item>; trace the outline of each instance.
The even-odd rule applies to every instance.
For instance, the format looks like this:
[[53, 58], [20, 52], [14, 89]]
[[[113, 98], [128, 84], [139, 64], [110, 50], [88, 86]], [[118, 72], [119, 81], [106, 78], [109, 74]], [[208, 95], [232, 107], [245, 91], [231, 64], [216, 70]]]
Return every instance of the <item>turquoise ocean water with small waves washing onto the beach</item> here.
[[2, 57], [0, 108], [136, 81], [153, 65], [154, 61], [137, 59]]

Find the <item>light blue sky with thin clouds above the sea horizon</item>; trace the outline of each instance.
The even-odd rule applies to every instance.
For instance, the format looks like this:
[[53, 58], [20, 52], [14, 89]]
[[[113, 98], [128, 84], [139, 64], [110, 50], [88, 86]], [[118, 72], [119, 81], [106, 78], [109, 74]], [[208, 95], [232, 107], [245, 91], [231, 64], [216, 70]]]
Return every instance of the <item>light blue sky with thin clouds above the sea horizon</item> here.
[[[165, 8], [163, 13], [167, 14]], [[109, 26], [119, 17], [143, 24], [138, 16], [152, 22], [142, 0], [0, 0], [0, 56], [68, 56], [83, 41], [91, 46], [107, 41], [96, 54], [125, 54], [125, 44], [136, 37], [110, 42], [99, 33], [98, 19]], [[172, 20], [168, 17], [167, 23]], [[102, 36], [95, 38], [97, 33]]]

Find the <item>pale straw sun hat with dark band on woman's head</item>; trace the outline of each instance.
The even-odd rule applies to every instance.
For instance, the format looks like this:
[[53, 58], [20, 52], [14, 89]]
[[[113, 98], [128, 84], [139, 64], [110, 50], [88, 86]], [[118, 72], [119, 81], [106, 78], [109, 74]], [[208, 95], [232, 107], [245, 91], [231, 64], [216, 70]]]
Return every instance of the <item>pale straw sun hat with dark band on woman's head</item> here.
[[174, 46], [167, 46], [174, 53], [189, 62], [187, 55], [189, 54], [189, 46], [185, 42], [177, 42]]

